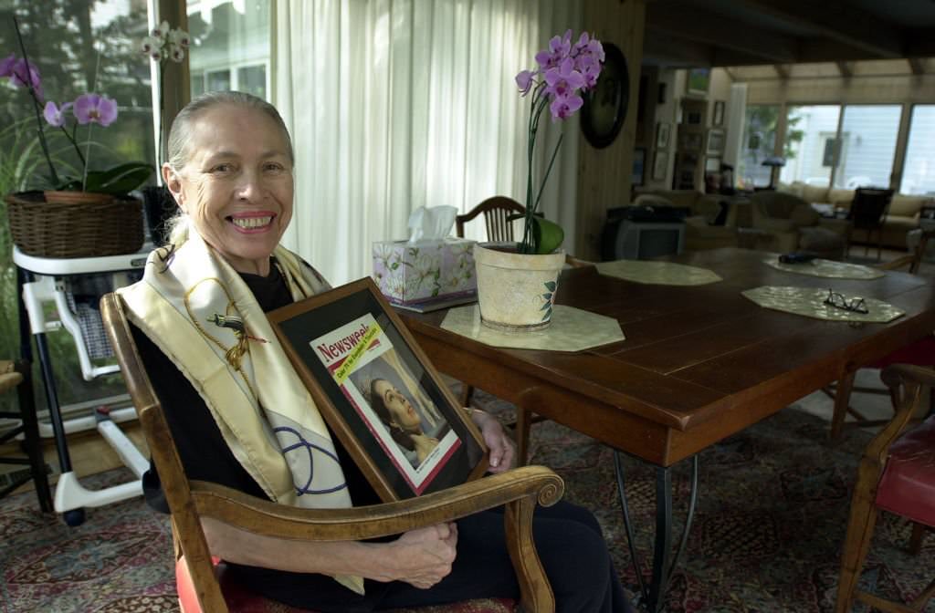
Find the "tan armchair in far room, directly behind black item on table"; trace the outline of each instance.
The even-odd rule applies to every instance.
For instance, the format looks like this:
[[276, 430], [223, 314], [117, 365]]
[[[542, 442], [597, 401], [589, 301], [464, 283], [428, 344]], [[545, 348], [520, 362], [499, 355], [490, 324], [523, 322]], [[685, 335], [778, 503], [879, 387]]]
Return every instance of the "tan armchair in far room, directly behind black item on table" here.
[[753, 227], [769, 237], [765, 249], [787, 253], [809, 251], [840, 260], [850, 242], [851, 223], [822, 219], [806, 200], [785, 192], [755, 192], [750, 196]]

